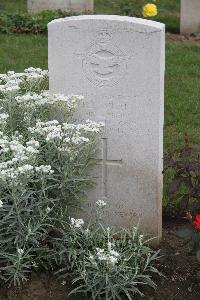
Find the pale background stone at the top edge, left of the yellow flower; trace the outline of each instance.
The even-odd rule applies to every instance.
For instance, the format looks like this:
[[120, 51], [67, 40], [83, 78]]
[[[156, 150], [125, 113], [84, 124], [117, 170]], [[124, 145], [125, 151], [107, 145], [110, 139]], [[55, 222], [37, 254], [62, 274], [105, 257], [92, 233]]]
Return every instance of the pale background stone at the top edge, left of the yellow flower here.
[[57, 9], [75, 12], [93, 10], [93, 0], [28, 0], [27, 4], [29, 13]]

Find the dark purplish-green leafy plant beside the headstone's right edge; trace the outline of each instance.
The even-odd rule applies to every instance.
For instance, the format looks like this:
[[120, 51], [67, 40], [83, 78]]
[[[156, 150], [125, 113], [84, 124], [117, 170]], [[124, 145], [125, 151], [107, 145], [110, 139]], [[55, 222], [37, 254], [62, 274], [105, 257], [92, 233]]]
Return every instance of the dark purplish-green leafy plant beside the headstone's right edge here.
[[165, 169], [170, 172], [169, 195], [179, 213], [192, 210], [200, 199], [200, 148], [191, 147], [185, 136], [185, 145], [165, 156]]

